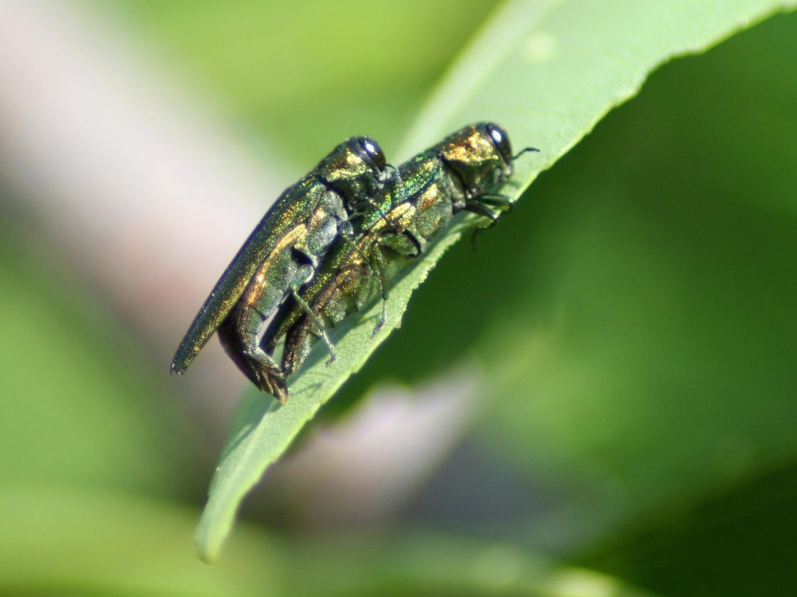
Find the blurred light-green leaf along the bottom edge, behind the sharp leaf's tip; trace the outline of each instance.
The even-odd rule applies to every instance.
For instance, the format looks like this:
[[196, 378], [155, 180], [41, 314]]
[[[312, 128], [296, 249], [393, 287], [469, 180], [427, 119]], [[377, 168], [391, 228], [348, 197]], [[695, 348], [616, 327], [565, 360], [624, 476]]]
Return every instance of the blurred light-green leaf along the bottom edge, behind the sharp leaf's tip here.
[[9, 485], [0, 486], [0, 511], [10, 514], [0, 518], [2, 595], [653, 597], [520, 545], [462, 536], [296, 537], [245, 526], [210, 568], [185, 548], [194, 509], [178, 502]]

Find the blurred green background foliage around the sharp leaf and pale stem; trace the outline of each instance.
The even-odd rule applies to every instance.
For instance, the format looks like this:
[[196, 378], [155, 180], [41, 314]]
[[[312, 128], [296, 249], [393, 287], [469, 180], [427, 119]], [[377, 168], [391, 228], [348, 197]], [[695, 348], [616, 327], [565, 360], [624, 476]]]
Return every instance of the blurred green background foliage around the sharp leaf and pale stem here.
[[[351, 134], [390, 156], [492, 8], [73, 6], [204, 90], [286, 181]], [[324, 496], [291, 481], [300, 442], [212, 568], [191, 534], [225, 418], [165, 375], [179, 336], [142, 332], [88, 283], [46, 234], [53, 199], [4, 176], [0, 592], [791, 594], [795, 56], [790, 14], [665, 65], [477, 251], [457, 245], [322, 423], [356, 417], [373, 387], [473, 366], [477, 406], [450, 445], [363, 521], [304, 512]]]

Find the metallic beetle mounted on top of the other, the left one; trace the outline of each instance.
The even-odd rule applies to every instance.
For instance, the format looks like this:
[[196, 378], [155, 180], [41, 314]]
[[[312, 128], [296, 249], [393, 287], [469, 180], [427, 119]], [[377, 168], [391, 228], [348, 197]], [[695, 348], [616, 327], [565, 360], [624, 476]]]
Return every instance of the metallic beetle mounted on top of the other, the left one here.
[[[285, 297], [312, 280], [328, 249], [352, 236], [351, 214], [400, 187], [369, 137], [340, 143], [286, 189], [253, 230], [191, 324], [171, 363], [181, 374], [219, 332], [226, 352], [257, 387], [278, 398], [281, 367], [257, 345], [263, 322]], [[283, 397], [284, 398], [284, 397]]]

